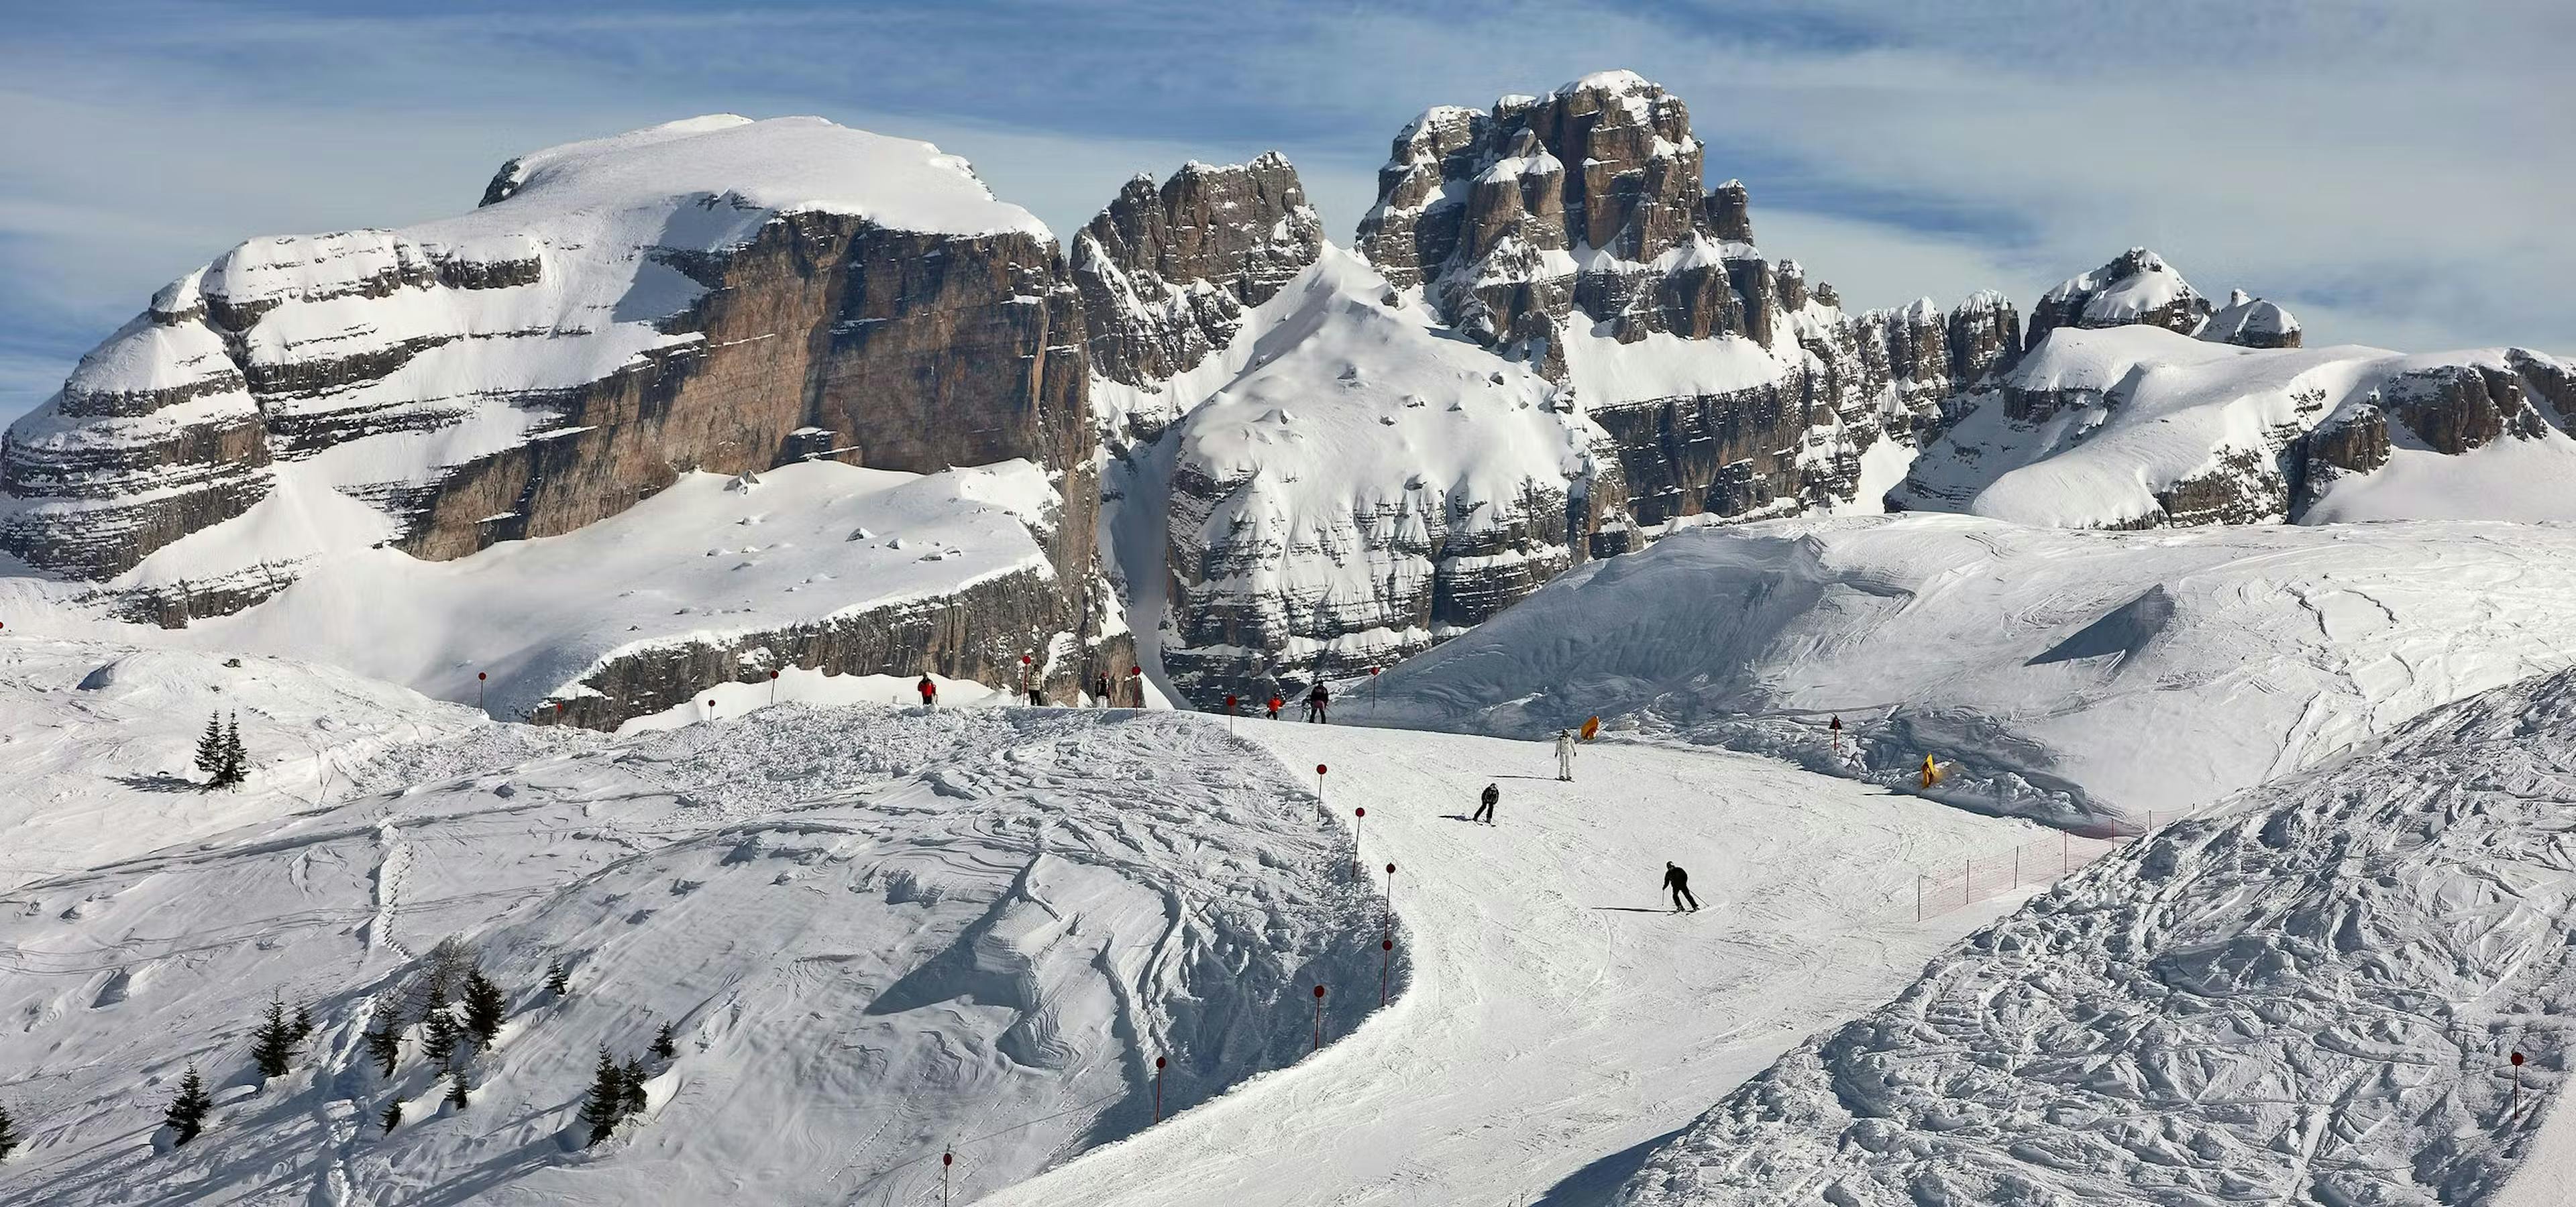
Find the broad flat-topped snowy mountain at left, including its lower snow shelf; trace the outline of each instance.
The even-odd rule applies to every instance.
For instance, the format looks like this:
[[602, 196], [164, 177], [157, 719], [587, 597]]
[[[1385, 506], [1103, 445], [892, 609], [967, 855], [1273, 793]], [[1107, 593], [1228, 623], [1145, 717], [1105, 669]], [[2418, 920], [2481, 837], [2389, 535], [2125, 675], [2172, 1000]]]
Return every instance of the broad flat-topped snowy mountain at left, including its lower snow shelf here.
[[[1084, 378], [1051, 234], [961, 160], [696, 118], [513, 160], [461, 219], [255, 239], [180, 278], [10, 427], [0, 548], [64, 579], [59, 607], [252, 610], [240, 628], [276, 641], [234, 649], [353, 649], [451, 700], [541, 669], [500, 695], [513, 715], [580, 700], [567, 718], [613, 726], [781, 664], [1010, 682], [1036, 654], [1066, 692], [1126, 661], [1092, 656], [1123, 643], [1095, 589]], [[781, 466], [786, 489], [724, 515], [773, 528], [696, 530], [732, 512], [721, 476]], [[1010, 484], [927, 479], [961, 466]], [[626, 533], [590, 556], [603, 522]], [[966, 558], [943, 556], [956, 522]], [[675, 540], [765, 553], [775, 582], [683, 569]], [[592, 594], [629, 602], [574, 605]], [[507, 620], [513, 597], [544, 607]]]

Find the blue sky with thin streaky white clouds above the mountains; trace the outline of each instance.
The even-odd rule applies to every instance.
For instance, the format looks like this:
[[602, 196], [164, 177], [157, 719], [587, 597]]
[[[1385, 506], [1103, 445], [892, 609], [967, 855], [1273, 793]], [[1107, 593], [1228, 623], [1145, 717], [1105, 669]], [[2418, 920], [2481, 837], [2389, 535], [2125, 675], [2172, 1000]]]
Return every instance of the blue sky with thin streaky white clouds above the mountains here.
[[2311, 342], [2576, 353], [2576, 5], [8, 3], [0, 417], [252, 234], [469, 208], [515, 152], [822, 113], [1059, 232], [1280, 149], [1342, 242], [1406, 118], [1631, 67], [1852, 304], [2151, 244]]

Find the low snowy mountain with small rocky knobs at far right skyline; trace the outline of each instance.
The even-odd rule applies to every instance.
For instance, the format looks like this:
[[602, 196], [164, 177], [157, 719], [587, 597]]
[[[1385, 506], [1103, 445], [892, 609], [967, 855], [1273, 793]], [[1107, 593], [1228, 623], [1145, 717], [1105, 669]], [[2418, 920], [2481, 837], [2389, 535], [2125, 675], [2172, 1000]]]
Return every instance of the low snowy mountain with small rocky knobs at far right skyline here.
[[2048, 291], [2020, 365], [1942, 404], [1891, 510], [2061, 528], [2571, 520], [2576, 365], [2300, 347], [2143, 247]]

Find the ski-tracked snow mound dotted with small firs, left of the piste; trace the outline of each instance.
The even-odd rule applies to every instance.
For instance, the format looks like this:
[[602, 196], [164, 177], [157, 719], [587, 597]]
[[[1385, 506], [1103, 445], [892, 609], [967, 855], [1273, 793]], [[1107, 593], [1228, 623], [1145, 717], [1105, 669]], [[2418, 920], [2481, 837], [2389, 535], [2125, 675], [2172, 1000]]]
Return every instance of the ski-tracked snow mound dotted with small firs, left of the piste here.
[[[417, 1024], [392, 1081], [358, 1042], [448, 934], [510, 993], [464, 1112]], [[1144, 1127], [1154, 1055], [1164, 1109], [1296, 1060], [1306, 986], [1376, 981], [1378, 937], [1342, 826], [1221, 726], [778, 708], [8, 893], [0, 1096], [28, 1140], [0, 1176], [49, 1204], [891, 1204], [956, 1145], [974, 1197]], [[319, 1029], [263, 1089], [273, 993]], [[662, 1022], [647, 1122], [569, 1143], [598, 1045], [641, 1055]], [[191, 1060], [219, 1109], [155, 1153]]]

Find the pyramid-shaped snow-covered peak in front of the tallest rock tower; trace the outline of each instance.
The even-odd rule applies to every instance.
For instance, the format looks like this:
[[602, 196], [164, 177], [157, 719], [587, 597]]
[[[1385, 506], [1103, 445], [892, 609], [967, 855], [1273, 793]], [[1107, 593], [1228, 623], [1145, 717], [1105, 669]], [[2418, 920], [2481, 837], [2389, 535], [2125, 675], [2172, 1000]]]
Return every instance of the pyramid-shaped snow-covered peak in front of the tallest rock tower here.
[[1577, 558], [1600, 430], [1528, 365], [1329, 247], [1244, 340], [1175, 430], [1162, 664], [1193, 697], [1394, 661]]

